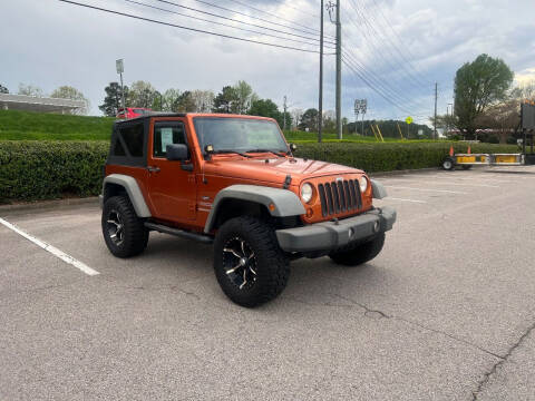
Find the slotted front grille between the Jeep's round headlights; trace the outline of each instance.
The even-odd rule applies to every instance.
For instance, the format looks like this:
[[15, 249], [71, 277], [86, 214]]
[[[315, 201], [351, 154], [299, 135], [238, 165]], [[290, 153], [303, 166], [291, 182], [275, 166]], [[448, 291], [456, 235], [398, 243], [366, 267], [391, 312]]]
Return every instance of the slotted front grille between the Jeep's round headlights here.
[[358, 179], [334, 180], [318, 186], [323, 217], [362, 208]]

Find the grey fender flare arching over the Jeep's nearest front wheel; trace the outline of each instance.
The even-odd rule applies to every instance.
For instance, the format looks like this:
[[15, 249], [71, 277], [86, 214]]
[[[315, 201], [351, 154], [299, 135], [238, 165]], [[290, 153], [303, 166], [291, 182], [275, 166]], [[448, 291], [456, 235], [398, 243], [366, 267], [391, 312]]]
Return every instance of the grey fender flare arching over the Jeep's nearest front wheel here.
[[[300, 216], [307, 213], [301, 199], [289, 189], [272, 188], [259, 185], [231, 185], [216, 195], [204, 232], [210, 233], [214, 225], [221, 204], [225, 199], [249, 200], [266, 207], [274, 217]], [[270, 205], [274, 209], [270, 209]]]

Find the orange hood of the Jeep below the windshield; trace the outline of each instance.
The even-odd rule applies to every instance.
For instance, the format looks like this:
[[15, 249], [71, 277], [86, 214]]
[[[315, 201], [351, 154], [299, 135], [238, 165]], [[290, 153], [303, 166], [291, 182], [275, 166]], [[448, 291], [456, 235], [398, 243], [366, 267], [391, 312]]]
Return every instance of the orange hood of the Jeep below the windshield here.
[[250, 159], [217, 157], [213, 162], [205, 164], [205, 173], [275, 183], [283, 183], [286, 175], [291, 175], [292, 182], [296, 183], [305, 178], [354, 174], [362, 173], [362, 170], [325, 162], [301, 158], [272, 158], [270, 156], [270, 158], [255, 157]]

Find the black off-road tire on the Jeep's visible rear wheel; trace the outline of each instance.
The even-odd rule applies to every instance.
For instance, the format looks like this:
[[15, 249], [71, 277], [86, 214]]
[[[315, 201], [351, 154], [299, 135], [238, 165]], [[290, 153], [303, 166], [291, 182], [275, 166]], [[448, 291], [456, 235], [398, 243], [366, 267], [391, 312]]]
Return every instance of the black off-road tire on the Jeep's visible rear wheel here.
[[[123, 241], [114, 242], [109, 234], [108, 218], [111, 212], [117, 212], [123, 225]], [[109, 252], [117, 257], [127, 258], [137, 256], [145, 251], [148, 243], [148, 229], [143, 219], [137, 217], [136, 211], [127, 196], [113, 196], [106, 200], [103, 208], [103, 235]]]

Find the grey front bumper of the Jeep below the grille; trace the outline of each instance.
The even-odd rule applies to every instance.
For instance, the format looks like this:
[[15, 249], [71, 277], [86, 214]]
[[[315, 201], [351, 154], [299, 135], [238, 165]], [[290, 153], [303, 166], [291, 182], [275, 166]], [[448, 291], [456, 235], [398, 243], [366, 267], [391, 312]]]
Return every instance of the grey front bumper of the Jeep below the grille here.
[[395, 208], [385, 206], [340, 221], [278, 229], [276, 239], [285, 252], [335, 250], [392, 229], [396, 216]]

